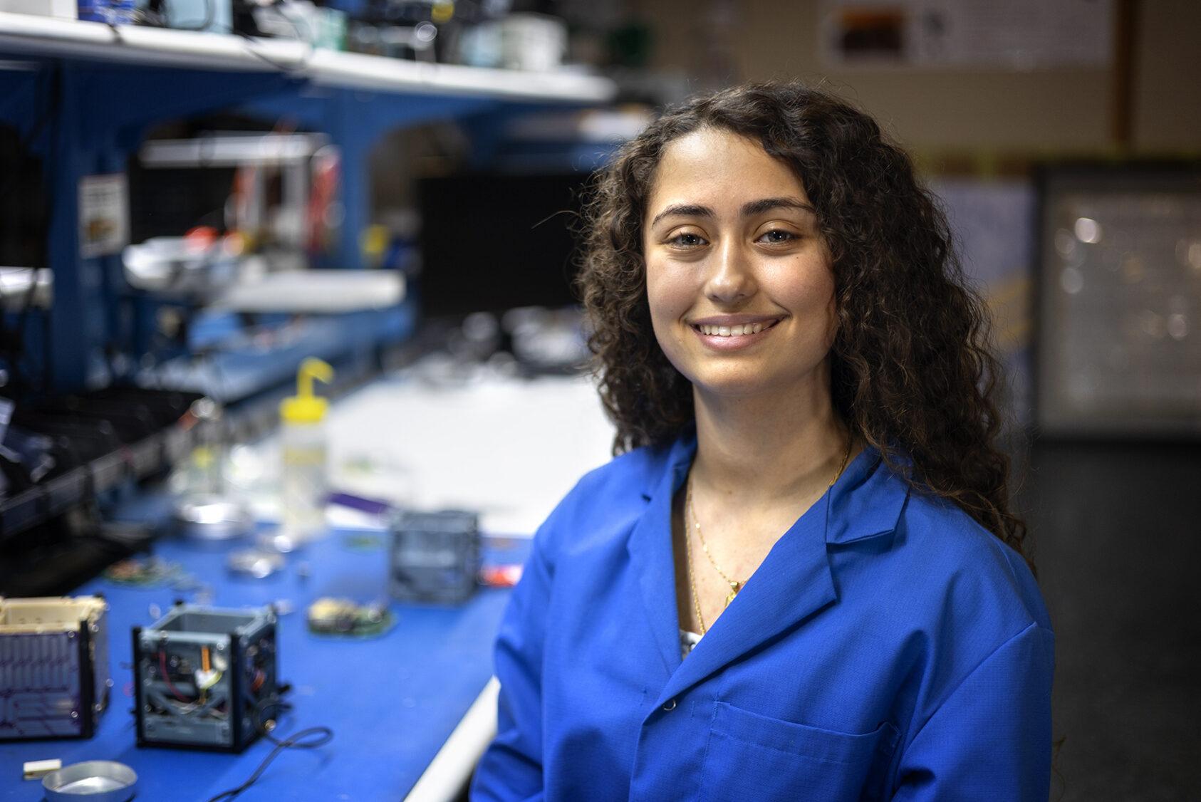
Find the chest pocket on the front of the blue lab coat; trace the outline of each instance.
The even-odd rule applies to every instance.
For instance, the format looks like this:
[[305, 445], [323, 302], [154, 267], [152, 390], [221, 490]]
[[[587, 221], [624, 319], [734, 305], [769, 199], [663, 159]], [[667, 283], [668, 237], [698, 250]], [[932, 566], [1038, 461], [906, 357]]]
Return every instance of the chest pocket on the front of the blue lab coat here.
[[888, 722], [854, 735], [717, 702], [701, 792], [709, 802], [876, 800], [896, 742]]

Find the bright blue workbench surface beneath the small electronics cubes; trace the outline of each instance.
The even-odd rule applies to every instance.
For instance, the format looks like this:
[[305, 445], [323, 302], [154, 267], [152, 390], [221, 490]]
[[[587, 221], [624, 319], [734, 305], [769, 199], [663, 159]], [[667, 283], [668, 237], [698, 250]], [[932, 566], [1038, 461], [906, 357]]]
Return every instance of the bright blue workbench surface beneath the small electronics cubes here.
[[[312, 635], [305, 609], [323, 595], [359, 603], [383, 599], [386, 539], [363, 547], [363, 533], [351, 547], [348, 533], [334, 533], [291, 555], [287, 568], [267, 580], [232, 577], [225, 569], [228, 549], [213, 550], [163, 540], [155, 555], [181, 563], [211, 589], [216, 606], [262, 606], [280, 599], [294, 605], [279, 623], [279, 669], [293, 688], [291, 713], [276, 735], [325, 725], [334, 740], [318, 749], [287, 749], [239, 800], [400, 800], [454, 730], [491, 676], [491, 641], [507, 591], [480, 589], [461, 608], [393, 603], [396, 626], [370, 640]], [[304, 577], [298, 567], [307, 565]], [[130, 629], [153, 623], [150, 605], [162, 610], [177, 598], [192, 600], [205, 588], [180, 591], [118, 585], [96, 579], [77, 594], [102, 593], [109, 602], [108, 632], [114, 687], [98, 734], [85, 741], [36, 741], [0, 746], [0, 800], [40, 800], [37, 780], [20, 780], [28, 760], [59, 758], [116, 760], [138, 774], [138, 802], [204, 802], [240, 785], [270, 753], [257, 741], [240, 755], [135, 746], [130, 686]]]

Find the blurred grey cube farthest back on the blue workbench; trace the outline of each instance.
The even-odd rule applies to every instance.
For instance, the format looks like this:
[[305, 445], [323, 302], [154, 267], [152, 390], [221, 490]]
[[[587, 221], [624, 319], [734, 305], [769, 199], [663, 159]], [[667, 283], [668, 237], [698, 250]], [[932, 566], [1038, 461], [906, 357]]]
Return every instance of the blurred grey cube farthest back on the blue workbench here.
[[392, 522], [388, 571], [401, 602], [458, 604], [476, 592], [479, 516], [474, 513], [400, 513]]

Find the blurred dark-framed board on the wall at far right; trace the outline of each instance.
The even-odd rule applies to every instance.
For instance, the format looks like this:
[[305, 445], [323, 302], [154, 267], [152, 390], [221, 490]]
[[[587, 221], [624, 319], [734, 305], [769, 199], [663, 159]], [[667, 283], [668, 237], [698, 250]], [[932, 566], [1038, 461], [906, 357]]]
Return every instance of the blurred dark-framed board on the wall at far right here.
[[1040, 223], [1044, 433], [1201, 435], [1201, 164], [1048, 167]]

